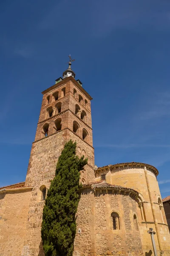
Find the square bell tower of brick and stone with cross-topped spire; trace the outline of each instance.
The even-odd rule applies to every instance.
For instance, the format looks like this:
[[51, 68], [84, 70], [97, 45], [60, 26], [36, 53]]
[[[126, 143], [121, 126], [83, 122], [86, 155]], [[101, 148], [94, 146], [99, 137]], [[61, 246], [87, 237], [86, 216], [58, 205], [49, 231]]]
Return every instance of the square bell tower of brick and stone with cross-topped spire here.
[[[70, 56], [69, 56], [70, 57]], [[42, 92], [42, 106], [26, 175], [26, 185], [33, 186], [25, 246], [30, 256], [44, 255], [41, 244], [41, 222], [44, 198], [54, 178], [57, 160], [66, 142], [77, 142], [77, 155], [88, 157], [81, 171], [81, 182], [95, 180], [94, 148], [91, 125], [91, 96], [69, 67], [63, 77]]]

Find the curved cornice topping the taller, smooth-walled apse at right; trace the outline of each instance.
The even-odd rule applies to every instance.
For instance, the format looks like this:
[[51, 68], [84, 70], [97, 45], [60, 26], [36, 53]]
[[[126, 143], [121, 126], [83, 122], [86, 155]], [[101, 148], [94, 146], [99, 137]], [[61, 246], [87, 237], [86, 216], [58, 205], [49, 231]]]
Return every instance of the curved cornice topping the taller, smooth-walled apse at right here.
[[95, 173], [97, 172], [102, 172], [102, 171], [107, 171], [107, 170], [120, 170], [120, 169], [132, 169], [132, 168], [143, 168], [146, 166], [147, 170], [153, 172], [156, 176], [159, 174], [158, 170], [154, 167], [151, 166], [150, 164], [147, 163], [138, 163], [138, 162], [131, 162], [131, 163], [117, 163], [114, 165], [108, 165], [108, 166], [103, 166], [99, 167], [97, 170], [95, 170]]

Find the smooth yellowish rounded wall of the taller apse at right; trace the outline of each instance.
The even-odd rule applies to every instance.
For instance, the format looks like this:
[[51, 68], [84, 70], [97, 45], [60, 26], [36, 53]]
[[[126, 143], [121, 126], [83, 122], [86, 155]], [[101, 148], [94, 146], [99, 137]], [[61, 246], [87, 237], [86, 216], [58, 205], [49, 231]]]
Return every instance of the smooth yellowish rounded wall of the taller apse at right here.
[[[162, 250], [164, 255], [169, 256], [170, 234], [162, 202], [159, 203], [159, 200], [161, 201], [161, 194], [154, 169], [151, 169], [149, 165], [148, 167], [141, 166], [140, 163], [139, 166], [135, 163], [125, 163], [122, 165], [124, 167], [118, 164], [117, 166], [109, 166], [109, 168], [101, 168], [102, 170], [99, 168], [96, 171], [96, 180], [100, 180], [102, 173], [105, 173], [108, 183], [129, 187], [139, 192], [139, 201], [142, 206], [141, 209], [138, 207], [137, 212], [144, 253], [147, 255], [147, 253], [150, 253], [150, 250], [153, 252], [152, 241], [147, 233], [147, 230], [152, 227], [156, 231], [154, 237], [158, 255], [161, 255]], [[127, 203], [124, 202], [124, 204]], [[125, 218], [128, 219], [128, 213]], [[126, 227], [130, 228], [128, 221]]]

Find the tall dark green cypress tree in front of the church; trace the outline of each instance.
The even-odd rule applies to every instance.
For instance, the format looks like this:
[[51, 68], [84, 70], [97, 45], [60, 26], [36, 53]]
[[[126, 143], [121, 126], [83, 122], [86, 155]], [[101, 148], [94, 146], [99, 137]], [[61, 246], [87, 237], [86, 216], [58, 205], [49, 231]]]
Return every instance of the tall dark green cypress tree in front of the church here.
[[56, 175], [51, 181], [42, 215], [41, 237], [45, 256], [72, 256], [76, 235], [76, 212], [79, 203], [79, 171], [87, 164], [76, 156], [70, 140], [58, 159]]

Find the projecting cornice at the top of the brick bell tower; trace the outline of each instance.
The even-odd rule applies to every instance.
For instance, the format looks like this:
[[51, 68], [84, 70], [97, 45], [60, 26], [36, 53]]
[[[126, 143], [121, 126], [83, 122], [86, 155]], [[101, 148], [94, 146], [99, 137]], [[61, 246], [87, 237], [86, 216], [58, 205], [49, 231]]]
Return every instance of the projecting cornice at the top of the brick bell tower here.
[[92, 100], [93, 98], [86, 92], [85, 89], [83, 89], [83, 87], [72, 77], [72, 76], [69, 76], [69, 77], [66, 77], [65, 79], [63, 79], [62, 81], [60, 81], [59, 83], [57, 84], [54, 84], [52, 85], [51, 87], [49, 87], [48, 89], [44, 90], [42, 92], [42, 94], [46, 94], [46, 93], [49, 93], [51, 90], [54, 90], [56, 88], [59, 88], [60, 86], [66, 84], [67, 82], [69, 81], [72, 81], [73, 84], [89, 99], [89, 100]]

